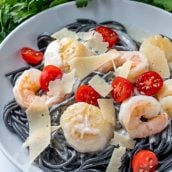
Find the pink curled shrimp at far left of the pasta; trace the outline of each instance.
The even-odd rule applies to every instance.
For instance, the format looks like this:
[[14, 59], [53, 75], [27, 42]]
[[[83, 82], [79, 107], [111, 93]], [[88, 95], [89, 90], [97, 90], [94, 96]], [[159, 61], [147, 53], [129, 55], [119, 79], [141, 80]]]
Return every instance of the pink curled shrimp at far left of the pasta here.
[[19, 105], [24, 108], [29, 107], [40, 89], [39, 78], [41, 71], [31, 68], [22, 73], [17, 79], [13, 88], [14, 97]]

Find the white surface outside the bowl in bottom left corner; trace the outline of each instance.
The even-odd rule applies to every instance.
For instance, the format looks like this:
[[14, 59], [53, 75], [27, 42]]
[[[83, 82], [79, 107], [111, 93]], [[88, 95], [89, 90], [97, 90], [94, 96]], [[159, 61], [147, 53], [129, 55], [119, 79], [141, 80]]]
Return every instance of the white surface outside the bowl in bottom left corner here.
[[3, 172], [21, 172], [5, 157], [5, 155], [1, 151], [0, 151], [0, 166], [1, 166], [1, 171]]

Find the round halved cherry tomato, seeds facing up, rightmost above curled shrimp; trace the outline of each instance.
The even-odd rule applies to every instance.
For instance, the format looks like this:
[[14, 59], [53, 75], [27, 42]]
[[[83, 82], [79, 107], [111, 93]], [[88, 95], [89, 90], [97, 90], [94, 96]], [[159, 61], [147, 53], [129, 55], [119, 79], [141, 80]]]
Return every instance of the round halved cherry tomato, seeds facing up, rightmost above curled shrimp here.
[[162, 77], [154, 71], [141, 74], [136, 80], [136, 88], [140, 94], [155, 95], [163, 86]]

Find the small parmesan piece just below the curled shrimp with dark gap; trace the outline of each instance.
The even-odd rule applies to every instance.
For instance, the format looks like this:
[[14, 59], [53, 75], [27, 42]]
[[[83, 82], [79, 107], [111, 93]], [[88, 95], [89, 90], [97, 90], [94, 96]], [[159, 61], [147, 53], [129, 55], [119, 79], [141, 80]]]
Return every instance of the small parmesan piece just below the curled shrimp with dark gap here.
[[111, 140], [112, 145], [119, 145], [129, 149], [133, 149], [135, 146], [135, 141], [129, 136], [124, 136], [117, 132], [114, 132], [114, 138]]

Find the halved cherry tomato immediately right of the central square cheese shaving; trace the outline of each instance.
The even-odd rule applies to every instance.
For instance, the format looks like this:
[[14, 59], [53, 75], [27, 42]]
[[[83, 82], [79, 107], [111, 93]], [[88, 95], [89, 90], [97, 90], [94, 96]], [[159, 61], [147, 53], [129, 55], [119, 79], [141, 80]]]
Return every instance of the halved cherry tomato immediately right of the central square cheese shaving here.
[[127, 98], [131, 97], [134, 92], [133, 84], [120, 76], [117, 76], [112, 81], [112, 97], [117, 102], [123, 102]]

